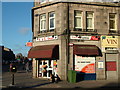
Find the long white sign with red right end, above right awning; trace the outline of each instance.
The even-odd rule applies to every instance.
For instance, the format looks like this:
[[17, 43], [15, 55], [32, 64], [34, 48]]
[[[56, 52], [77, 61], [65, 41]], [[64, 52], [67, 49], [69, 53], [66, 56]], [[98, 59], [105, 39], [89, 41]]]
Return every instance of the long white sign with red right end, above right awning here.
[[71, 35], [70, 39], [77, 39], [77, 40], [99, 40], [99, 36], [75, 36]]

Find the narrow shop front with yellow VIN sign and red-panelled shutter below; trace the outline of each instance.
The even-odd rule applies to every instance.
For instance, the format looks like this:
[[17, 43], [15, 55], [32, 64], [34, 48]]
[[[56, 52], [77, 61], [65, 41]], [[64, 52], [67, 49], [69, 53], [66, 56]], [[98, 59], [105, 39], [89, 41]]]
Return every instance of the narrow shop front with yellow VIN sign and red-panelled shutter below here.
[[106, 79], [118, 79], [119, 36], [101, 36], [102, 52], [105, 54]]

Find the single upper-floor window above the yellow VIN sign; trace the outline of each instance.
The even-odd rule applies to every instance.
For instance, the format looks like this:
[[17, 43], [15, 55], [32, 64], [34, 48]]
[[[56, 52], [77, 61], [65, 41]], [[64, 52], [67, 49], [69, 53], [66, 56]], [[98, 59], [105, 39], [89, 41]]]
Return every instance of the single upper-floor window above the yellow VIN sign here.
[[116, 30], [116, 14], [109, 14], [109, 28], [110, 31], [115, 31]]

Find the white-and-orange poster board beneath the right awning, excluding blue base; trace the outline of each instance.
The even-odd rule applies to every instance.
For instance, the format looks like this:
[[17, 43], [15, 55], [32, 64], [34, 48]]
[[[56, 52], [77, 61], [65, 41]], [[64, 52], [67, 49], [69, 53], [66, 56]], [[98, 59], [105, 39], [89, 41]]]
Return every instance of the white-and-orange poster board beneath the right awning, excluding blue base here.
[[95, 57], [82, 57], [75, 55], [75, 71], [82, 73], [95, 73]]

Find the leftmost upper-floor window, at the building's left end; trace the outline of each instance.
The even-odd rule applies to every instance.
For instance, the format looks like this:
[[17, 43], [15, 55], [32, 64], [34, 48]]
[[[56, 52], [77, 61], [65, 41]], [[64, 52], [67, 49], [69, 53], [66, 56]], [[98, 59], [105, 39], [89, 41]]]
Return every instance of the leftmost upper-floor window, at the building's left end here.
[[40, 15], [40, 32], [46, 31], [46, 14]]

